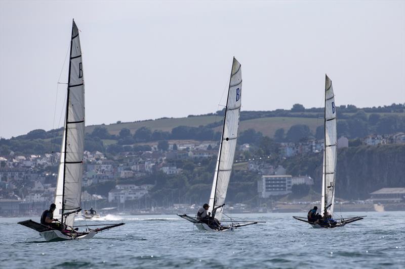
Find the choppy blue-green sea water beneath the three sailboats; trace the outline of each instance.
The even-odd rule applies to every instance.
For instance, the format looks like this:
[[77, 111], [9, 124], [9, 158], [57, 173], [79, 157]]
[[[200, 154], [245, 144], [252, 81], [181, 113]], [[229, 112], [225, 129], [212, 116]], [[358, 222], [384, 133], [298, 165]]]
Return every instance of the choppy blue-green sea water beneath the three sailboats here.
[[[45, 242], [0, 219], [2, 268], [404, 268], [405, 212], [353, 212], [365, 220], [336, 229], [312, 229], [291, 213], [239, 214], [265, 224], [235, 232], [197, 231], [177, 216], [111, 216], [125, 222], [93, 239]], [[294, 214], [297, 216], [297, 213]], [[298, 214], [298, 216], [302, 215]], [[31, 218], [34, 220], [34, 218]], [[39, 218], [38, 218], [39, 219]], [[84, 220], [76, 222], [84, 224]], [[94, 224], [93, 221], [87, 221]]]

